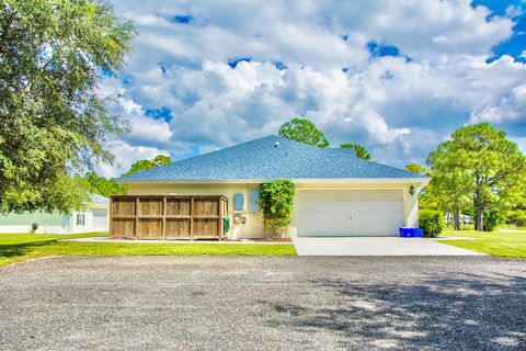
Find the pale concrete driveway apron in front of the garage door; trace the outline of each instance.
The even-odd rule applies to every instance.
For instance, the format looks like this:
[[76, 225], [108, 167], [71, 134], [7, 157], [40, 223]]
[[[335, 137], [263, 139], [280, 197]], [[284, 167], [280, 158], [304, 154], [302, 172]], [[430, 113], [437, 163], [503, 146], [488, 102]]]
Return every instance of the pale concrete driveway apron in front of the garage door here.
[[427, 238], [296, 238], [298, 256], [484, 256]]

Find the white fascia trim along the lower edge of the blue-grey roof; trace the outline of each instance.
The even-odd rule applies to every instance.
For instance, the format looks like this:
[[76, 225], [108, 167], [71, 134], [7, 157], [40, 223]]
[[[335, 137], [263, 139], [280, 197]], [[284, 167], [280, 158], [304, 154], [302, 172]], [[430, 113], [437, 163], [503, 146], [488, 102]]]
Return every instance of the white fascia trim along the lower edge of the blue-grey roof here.
[[[274, 179], [159, 179], [159, 180], [137, 180], [137, 179], [116, 179], [119, 184], [261, 184], [272, 182]], [[430, 178], [312, 178], [312, 179], [291, 179], [295, 184], [416, 184], [425, 185]]]

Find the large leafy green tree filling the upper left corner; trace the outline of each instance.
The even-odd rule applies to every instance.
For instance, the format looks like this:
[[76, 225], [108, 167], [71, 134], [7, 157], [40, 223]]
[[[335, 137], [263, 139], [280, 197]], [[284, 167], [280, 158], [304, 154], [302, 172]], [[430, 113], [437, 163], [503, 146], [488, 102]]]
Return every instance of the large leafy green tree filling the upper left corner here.
[[104, 1], [0, 2], [0, 212], [68, 213], [82, 177], [112, 162], [126, 126], [95, 92], [129, 52], [133, 25]]

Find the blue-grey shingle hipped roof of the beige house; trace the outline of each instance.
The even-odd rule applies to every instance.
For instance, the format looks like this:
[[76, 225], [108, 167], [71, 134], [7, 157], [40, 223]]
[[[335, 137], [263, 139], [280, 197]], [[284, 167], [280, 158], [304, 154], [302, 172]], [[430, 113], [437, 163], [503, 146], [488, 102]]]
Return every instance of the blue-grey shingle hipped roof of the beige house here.
[[[276, 143], [279, 144], [276, 147]], [[124, 176], [134, 181], [221, 181], [271, 179], [422, 178], [365, 161], [346, 149], [318, 148], [277, 136], [227, 147], [159, 168]]]

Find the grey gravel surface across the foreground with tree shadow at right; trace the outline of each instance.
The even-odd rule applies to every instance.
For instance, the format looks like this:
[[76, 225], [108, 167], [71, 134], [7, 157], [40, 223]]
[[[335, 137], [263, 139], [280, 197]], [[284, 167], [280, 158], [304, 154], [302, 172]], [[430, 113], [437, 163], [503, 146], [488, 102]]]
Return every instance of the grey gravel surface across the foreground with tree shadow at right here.
[[1, 350], [525, 350], [526, 261], [50, 258], [0, 269]]

